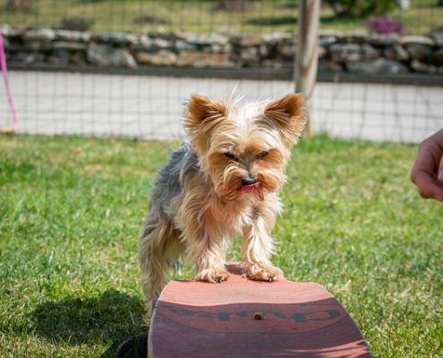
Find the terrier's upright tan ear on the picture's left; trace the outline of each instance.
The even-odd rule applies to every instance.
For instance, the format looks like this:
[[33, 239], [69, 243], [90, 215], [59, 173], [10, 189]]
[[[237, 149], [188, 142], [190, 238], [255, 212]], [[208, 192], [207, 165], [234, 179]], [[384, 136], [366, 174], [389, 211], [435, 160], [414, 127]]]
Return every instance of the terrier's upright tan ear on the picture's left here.
[[210, 132], [225, 120], [228, 107], [223, 102], [213, 102], [204, 96], [193, 94], [185, 110], [184, 128], [192, 144], [201, 154], [209, 147]]

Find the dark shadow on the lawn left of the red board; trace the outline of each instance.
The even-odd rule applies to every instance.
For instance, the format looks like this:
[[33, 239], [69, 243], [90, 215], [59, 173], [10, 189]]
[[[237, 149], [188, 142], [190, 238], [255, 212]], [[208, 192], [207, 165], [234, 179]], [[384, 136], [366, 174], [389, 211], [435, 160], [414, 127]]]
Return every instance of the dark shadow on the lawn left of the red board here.
[[42, 303], [31, 313], [34, 332], [51, 342], [70, 345], [110, 344], [103, 357], [114, 356], [118, 345], [147, 328], [139, 298], [109, 290], [81, 300], [69, 297]]

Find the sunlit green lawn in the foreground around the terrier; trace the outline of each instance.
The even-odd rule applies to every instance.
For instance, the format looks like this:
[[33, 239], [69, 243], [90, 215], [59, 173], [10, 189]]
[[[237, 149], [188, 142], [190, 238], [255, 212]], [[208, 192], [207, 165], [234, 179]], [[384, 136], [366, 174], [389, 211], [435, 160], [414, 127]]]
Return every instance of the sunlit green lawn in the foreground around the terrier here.
[[[274, 230], [286, 277], [326, 286], [378, 357], [443, 355], [443, 211], [408, 180], [415, 152], [303, 140]], [[113, 356], [146, 330], [137, 236], [167, 155], [161, 142], [0, 137], [0, 356]]]

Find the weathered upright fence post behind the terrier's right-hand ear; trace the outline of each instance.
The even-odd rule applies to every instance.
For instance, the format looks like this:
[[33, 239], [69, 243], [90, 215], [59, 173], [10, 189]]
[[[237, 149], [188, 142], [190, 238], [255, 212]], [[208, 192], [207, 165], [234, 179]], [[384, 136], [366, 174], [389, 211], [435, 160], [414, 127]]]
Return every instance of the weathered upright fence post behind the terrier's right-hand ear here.
[[305, 133], [312, 136], [312, 94], [317, 80], [319, 59], [319, 10], [320, 0], [299, 0], [298, 43], [295, 62], [295, 91], [301, 92], [306, 100], [310, 120]]

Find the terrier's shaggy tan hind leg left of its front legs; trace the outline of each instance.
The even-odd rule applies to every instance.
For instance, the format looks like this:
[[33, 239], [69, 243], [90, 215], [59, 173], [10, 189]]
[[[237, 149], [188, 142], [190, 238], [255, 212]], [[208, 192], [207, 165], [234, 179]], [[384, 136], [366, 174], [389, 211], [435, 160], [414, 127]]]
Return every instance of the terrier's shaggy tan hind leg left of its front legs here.
[[143, 292], [146, 296], [148, 316], [153, 302], [158, 299], [171, 268], [184, 251], [179, 232], [161, 214], [149, 212], [141, 232], [139, 261], [142, 273]]

